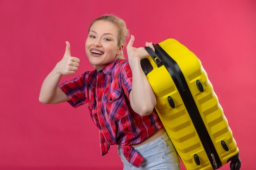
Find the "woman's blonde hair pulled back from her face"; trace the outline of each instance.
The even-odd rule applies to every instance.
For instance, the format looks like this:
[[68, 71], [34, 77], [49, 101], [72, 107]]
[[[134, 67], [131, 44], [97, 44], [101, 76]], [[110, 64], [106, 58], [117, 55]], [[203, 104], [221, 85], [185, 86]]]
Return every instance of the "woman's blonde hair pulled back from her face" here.
[[[108, 22], [111, 22], [112, 24], [116, 25], [119, 30], [117, 46], [121, 46], [122, 44], [125, 45], [126, 37], [128, 36], [128, 29], [126, 28], [126, 23], [124, 22], [124, 20], [122, 20], [121, 18], [118, 18], [117, 16], [114, 16], [114, 15], [103, 15], [103, 16], [92, 21], [92, 23], [90, 24], [90, 27], [89, 27], [89, 31], [91, 29], [91, 26], [99, 20], [108, 21]], [[124, 59], [123, 51], [121, 52], [120, 55], [118, 55], [118, 57], [120, 59]]]

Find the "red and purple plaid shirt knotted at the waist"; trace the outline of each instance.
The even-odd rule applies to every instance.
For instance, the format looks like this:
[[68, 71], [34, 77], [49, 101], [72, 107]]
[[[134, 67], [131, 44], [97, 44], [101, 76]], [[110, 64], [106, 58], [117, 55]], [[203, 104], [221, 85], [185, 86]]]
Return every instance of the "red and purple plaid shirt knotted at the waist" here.
[[140, 116], [131, 109], [132, 72], [128, 61], [116, 58], [101, 71], [87, 71], [59, 87], [74, 108], [83, 104], [89, 107], [100, 129], [101, 155], [117, 144], [126, 159], [139, 167], [143, 158], [131, 145], [144, 141], [163, 125], [157, 114]]

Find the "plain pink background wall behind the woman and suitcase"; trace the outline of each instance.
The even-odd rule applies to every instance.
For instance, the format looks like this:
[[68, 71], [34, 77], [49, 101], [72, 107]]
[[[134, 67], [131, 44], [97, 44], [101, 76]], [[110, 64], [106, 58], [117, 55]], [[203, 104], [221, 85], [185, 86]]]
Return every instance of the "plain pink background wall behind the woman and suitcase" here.
[[255, 0], [0, 0], [0, 169], [122, 168], [116, 146], [101, 157], [86, 106], [38, 102], [66, 40], [81, 60], [76, 75], [92, 69], [88, 26], [106, 13], [127, 22], [137, 47], [175, 38], [200, 58], [240, 149], [241, 170], [256, 169]]

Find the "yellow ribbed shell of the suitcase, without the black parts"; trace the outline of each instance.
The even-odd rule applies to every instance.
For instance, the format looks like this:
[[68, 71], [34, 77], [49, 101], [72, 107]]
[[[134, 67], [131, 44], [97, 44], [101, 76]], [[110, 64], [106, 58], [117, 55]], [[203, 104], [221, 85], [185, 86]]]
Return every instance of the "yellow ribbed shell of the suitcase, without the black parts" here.
[[[220, 158], [222, 165], [230, 160], [239, 161], [238, 166], [240, 168], [236, 141], [200, 60], [177, 40], [167, 39], [158, 45], [179, 65], [204, 126], [218, 153], [215, 157]], [[222, 165], [217, 166], [213, 163], [214, 158], [209, 160], [209, 155], [206, 154], [194, 123], [166, 66], [163, 65], [158, 68], [150, 56], [147, 57], [147, 60], [153, 66], [153, 70], [148, 73], [144, 72], [157, 98], [157, 113], [186, 169], [212, 170], [220, 168]], [[203, 92], [198, 89], [198, 80], [202, 84]], [[174, 108], [170, 106], [168, 97], [173, 99]], [[228, 151], [223, 148], [222, 141], [225, 141]], [[195, 155], [198, 155], [200, 165], [196, 163]]]

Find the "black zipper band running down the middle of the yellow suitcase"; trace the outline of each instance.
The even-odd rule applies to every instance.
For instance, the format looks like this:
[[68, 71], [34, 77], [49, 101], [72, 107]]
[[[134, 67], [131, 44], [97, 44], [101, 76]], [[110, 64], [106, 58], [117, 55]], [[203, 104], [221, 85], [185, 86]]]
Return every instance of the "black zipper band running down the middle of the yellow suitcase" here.
[[170, 73], [173, 82], [175, 83], [180, 96], [182, 97], [184, 105], [195, 126], [195, 130], [197, 131], [208, 159], [211, 162], [211, 166], [214, 170], [220, 168], [222, 163], [218, 157], [218, 153], [213, 145], [213, 142], [211, 141], [207, 128], [204, 125], [202, 117], [200, 116], [199, 110], [195, 104], [193, 96], [189, 90], [189, 86], [186, 83], [186, 79], [180, 67], [175, 60], [173, 60], [173, 58], [168, 55], [161, 46], [159, 46], [159, 44], [153, 44], [153, 46], [155, 47], [155, 53], [157, 53], [159, 58], [162, 60], [163, 65]]

